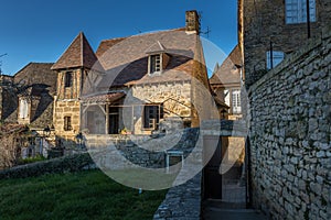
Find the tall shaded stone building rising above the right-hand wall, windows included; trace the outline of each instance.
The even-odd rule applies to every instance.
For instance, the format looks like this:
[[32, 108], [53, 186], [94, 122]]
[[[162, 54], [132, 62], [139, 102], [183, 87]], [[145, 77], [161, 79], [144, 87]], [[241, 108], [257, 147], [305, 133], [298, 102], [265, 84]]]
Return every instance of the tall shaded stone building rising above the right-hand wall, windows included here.
[[239, 0], [238, 40], [246, 87], [300, 48], [309, 37], [320, 38], [330, 20], [329, 0], [309, 0], [309, 7], [306, 0]]

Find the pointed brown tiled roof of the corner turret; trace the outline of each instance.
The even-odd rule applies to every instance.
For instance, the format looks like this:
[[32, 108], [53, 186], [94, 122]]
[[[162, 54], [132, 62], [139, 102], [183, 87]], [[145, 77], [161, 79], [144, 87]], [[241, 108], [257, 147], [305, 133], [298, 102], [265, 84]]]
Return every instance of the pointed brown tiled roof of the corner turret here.
[[[88, 41], [81, 32], [67, 50], [62, 54], [58, 61], [52, 66], [52, 69], [87, 67], [93, 68], [97, 57], [93, 52]], [[99, 66], [97, 67], [99, 68]]]

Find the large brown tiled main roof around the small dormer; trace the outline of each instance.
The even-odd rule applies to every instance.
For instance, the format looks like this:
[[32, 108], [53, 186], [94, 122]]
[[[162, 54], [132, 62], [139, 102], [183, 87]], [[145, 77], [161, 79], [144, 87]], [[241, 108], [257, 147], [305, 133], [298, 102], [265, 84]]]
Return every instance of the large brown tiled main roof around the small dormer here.
[[[189, 34], [184, 29], [175, 29], [103, 41], [97, 55], [106, 75], [98, 87], [190, 79], [194, 73], [193, 59], [196, 57], [197, 38], [194, 33]], [[170, 56], [169, 64], [162, 73], [164, 75], [160, 77], [147, 74], [148, 55], [156, 51]], [[169, 72], [170, 69], [174, 72]], [[181, 75], [181, 72], [184, 74]]]

